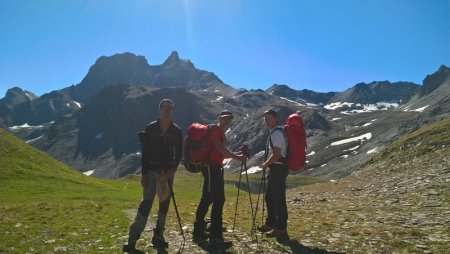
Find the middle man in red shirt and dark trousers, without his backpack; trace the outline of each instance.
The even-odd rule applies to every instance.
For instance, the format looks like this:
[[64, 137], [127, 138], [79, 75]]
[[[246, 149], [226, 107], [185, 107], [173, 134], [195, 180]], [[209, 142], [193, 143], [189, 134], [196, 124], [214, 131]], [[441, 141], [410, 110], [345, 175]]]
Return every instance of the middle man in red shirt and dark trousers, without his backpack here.
[[202, 168], [203, 191], [195, 216], [193, 238], [194, 241], [208, 238], [205, 216], [209, 206], [212, 204], [209, 242], [213, 246], [222, 245], [228, 247], [232, 245], [231, 241], [225, 239], [222, 234], [222, 213], [225, 203], [223, 160], [225, 158], [233, 158], [239, 161], [246, 160], [242, 152], [230, 152], [225, 148], [225, 131], [232, 120], [233, 114], [230, 111], [224, 110], [220, 112], [219, 123], [211, 128], [207, 140], [206, 148], [209, 152], [209, 165]]

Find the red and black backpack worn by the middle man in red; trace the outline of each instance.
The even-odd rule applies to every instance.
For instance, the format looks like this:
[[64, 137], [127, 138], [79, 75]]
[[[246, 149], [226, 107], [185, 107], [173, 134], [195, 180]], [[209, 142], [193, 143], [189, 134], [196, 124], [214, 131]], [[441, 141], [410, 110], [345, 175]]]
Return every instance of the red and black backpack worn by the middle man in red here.
[[184, 167], [189, 172], [198, 173], [202, 166], [208, 165], [208, 137], [215, 127], [218, 126], [200, 123], [193, 123], [188, 127], [184, 138]]

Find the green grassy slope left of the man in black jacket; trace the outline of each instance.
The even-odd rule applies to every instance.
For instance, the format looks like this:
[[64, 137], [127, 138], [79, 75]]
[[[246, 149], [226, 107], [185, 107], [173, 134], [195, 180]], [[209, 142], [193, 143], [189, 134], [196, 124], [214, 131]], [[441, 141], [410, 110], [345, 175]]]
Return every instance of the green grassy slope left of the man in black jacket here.
[[88, 252], [115, 245], [140, 188], [87, 177], [0, 129], [0, 193], [0, 253]]

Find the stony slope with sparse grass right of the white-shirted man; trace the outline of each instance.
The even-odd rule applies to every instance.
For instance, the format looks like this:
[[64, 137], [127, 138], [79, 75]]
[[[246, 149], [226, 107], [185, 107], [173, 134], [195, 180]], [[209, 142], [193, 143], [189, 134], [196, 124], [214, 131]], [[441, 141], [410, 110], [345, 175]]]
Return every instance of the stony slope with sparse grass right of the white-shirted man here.
[[449, 145], [447, 119], [401, 138], [349, 177], [292, 191], [296, 235], [346, 253], [446, 253]]

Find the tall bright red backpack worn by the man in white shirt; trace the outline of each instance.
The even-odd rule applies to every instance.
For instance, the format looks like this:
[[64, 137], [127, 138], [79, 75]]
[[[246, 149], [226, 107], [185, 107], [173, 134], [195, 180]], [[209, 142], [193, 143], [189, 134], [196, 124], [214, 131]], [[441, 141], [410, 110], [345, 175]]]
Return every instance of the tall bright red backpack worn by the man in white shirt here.
[[[294, 113], [286, 119], [283, 126], [276, 127], [273, 131], [275, 130], [283, 131], [288, 146], [287, 158], [280, 158], [279, 161], [286, 163], [291, 171], [300, 171], [306, 164], [307, 147], [303, 118]], [[273, 147], [271, 139], [269, 144]]]

